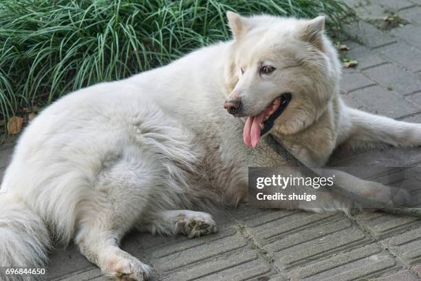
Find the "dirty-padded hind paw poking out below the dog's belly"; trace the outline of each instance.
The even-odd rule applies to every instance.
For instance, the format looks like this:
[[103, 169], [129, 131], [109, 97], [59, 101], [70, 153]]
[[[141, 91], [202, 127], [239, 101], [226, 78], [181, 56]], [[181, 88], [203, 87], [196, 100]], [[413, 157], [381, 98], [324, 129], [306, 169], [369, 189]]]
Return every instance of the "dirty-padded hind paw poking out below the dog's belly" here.
[[192, 211], [181, 218], [182, 232], [188, 238], [208, 235], [217, 232], [217, 226], [212, 216], [204, 212]]

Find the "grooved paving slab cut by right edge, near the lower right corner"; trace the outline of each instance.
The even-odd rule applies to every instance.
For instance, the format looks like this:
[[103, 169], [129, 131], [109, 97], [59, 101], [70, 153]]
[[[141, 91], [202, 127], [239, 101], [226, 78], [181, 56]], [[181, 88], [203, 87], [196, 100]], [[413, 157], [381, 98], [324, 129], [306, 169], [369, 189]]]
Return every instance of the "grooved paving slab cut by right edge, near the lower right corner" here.
[[383, 240], [382, 244], [406, 265], [421, 262], [421, 227]]

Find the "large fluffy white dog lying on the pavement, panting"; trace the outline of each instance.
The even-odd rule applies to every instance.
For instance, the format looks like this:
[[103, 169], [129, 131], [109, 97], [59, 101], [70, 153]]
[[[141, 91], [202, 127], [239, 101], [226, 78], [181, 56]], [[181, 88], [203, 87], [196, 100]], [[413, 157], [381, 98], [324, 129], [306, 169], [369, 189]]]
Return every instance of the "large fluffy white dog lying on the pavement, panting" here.
[[[233, 41], [78, 90], [32, 121], [0, 189], [1, 266], [40, 267], [53, 239], [74, 240], [106, 275], [147, 279], [150, 267], [120, 249], [122, 236], [215, 232], [210, 215], [188, 209], [235, 206], [248, 166], [285, 164], [261, 138], [268, 132], [314, 167], [341, 144], [421, 144], [420, 125], [343, 104], [323, 17], [228, 12], [228, 21]], [[321, 209], [350, 206], [323, 200]]]

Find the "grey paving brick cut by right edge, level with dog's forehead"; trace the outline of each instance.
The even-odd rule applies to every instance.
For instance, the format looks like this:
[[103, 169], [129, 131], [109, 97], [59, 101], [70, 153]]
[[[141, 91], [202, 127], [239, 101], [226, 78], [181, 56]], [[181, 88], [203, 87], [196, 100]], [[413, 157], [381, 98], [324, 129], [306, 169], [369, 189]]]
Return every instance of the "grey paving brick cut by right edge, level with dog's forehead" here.
[[380, 47], [376, 51], [411, 72], [421, 70], [421, 50], [403, 41]]

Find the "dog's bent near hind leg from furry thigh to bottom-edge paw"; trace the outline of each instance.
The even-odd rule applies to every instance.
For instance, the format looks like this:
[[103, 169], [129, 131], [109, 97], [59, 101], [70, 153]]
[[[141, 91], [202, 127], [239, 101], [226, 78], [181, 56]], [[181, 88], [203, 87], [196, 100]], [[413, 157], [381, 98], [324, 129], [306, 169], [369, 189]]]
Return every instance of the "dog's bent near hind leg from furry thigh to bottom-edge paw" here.
[[138, 160], [140, 155], [134, 153], [107, 165], [77, 214], [78, 248], [102, 273], [118, 280], [147, 280], [151, 273], [149, 266], [119, 247], [140, 217], [153, 213], [149, 200], [162, 182], [160, 168], [147, 159]]

